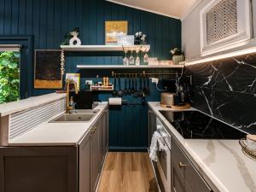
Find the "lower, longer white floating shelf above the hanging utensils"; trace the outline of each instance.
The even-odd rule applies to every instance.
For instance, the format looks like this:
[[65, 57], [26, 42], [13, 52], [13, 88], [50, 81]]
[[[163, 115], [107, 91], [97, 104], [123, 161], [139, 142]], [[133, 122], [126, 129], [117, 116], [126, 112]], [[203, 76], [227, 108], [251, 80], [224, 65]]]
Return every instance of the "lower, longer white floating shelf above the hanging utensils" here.
[[123, 66], [123, 65], [77, 65], [79, 69], [136, 69], [136, 68], [183, 68], [183, 65], [159, 65], [159, 66]]

